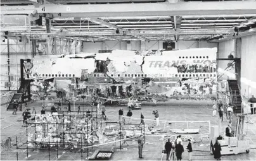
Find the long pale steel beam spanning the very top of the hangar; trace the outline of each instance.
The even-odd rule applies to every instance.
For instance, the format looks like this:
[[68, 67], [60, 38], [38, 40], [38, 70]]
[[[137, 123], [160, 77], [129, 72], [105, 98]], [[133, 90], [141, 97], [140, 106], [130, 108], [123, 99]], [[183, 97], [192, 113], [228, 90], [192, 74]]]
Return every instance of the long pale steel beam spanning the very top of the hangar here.
[[245, 15], [256, 13], [256, 1], [215, 1], [186, 3], [136, 3], [136, 4], [74, 4], [34, 6], [1, 6], [1, 14], [13, 14], [19, 10], [38, 13], [59, 13], [65, 17], [108, 16], [172, 16], [172, 15]]

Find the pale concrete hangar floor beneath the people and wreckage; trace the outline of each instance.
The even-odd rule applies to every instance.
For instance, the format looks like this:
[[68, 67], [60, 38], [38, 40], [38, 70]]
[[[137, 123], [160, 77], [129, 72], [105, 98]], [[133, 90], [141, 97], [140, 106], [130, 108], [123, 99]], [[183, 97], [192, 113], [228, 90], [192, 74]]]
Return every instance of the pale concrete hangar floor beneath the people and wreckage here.
[[[29, 104], [29, 107], [35, 107], [38, 113], [40, 113], [42, 102], [34, 102]], [[77, 108], [77, 107], [76, 107]], [[126, 115], [128, 109], [123, 106], [124, 114]], [[73, 109], [73, 108], [72, 108]], [[91, 107], [81, 107], [81, 110], [91, 109]], [[118, 119], [118, 110], [120, 107], [106, 107], [106, 116], [108, 121], [117, 121]], [[210, 100], [171, 100], [170, 102], [164, 103], [162, 105], [142, 105], [141, 110], [133, 110], [132, 117], [140, 117], [141, 112], [145, 119], [153, 119], [152, 110], [158, 110], [160, 114], [160, 120], [171, 121], [171, 125], [167, 125], [167, 129], [171, 128], [200, 128], [200, 134], [208, 134], [208, 123], [189, 123], [185, 122], [175, 122], [175, 121], [210, 121], [211, 126], [217, 125], [219, 117], [212, 117], [212, 102]], [[25, 139], [25, 130], [26, 128], [22, 127], [22, 112], [18, 111], [17, 115], [12, 115], [12, 111], [6, 111], [6, 106], [1, 107], [1, 141], [12, 137], [12, 143], [15, 143], [16, 136], [20, 136], [18, 141], [24, 141]], [[256, 143], [256, 115], [248, 116], [248, 120], [245, 124], [245, 138], [250, 140], [250, 144], [255, 146]], [[132, 123], [138, 124], [139, 120], [134, 120]], [[151, 121], [146, 121], [146, 124], [151, 124]], [[227, 119], [224, 117], [222, 122], [222, 131], [227, 126]], [[163, 122], [161, 122], [159, 129], [163, 128]], [[168, 132], [169, 133], [169, 132]], [[146, 136], [146, 143], [144, 145], [143, 159], [138, 158], [138, 145], [136, 140], [127, 141], [129, 146], [126, 151], [118, 151], [117, 145], [105, 145], [107, 148], [114, 147], [114, 153], [111, 160], [165, 160], [165, 155], [162, 154], [163, 150], [163, 141], [160, 140], [163, 134], [155, 134], [151, 136]], [[200, 135], [199, 135], [200, 136]], [[195, 136], [195, 138], [198, 136]], [[214, 160], [214, 156], [210, 155], [208, 140], [204, 140], [203, 143], [193, 144], [193, 160]], [[183, 145], [186, 148], [188, 143], [184, 142]], [[202, 146], [201, 146], [202, 145]], [[99, 148], [99, 147], [98, 147]], [[102, 148], [102, 147], [101, 147]], [[49, 160], [48, 151], [45, 152], [30, 152], [29, 158], [26, 157], [26, 150], [16, 150], [15, 146], [10, 149], [2, 151], [1, 148], [1, 160]], [[96, 150], [89, 150], [89, 156]], [[56, 151], [51, 151], [50, 159], [51, 160], [81, 160], [81, 153], [74, 152], [58, 152], [59, 157], [56, 157]], [[82, 153], [83, 159], [87, 157], [87, 153]], [[188, 160], [188, 153], [185, 152], [182, 155], [183, 160]], [[241, 153], [238, 155], [226, 155], [222, 156], [222, 160], [256, 160], [256, 150], [251, 149], [250, 153]]]

